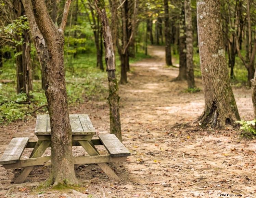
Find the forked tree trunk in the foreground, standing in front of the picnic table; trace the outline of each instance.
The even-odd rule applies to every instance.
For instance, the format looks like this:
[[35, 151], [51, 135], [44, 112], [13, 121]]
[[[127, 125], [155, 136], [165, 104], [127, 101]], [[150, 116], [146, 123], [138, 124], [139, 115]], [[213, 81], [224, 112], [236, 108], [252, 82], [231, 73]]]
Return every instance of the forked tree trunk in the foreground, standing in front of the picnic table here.
[[[73, 164], [63, 52], [64, 29], [70, 3], [67, 0], [61, 27], [57, 29], [44, 0], [23, 0], [45, 79], [51, 121], [51, 173], [46, 185], [78, 183]], [[31, 12], [32, 9], [34, 13]]]

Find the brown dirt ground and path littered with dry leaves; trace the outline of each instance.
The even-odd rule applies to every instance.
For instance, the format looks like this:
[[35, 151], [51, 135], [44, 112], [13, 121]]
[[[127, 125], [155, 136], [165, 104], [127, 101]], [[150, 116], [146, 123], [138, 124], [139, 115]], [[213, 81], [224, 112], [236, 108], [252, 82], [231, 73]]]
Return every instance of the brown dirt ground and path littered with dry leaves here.
[[[111, 165], [120, 182], [109, 180], [97, 165], [77, 165], [83, 186], [78, 191], [84, 194], [40, 190], [36, 186], [47, 179], [49, 167], [34, 168], [26, 183], [14, 185], [11, 181], [21, 170], [0, 166], [0, 197], [256, 197], [256, 141], [241, 140], [238, 129], [185, 128], [184, 123], [203, 112], [203, 93], [186, 93], [186, 82], [172, 81], [178, 68], [165, 66], [164, 47], [149, 46], [149, 54], [152, 58], [132, 64], [129, 83], [119, 86], [123, 143], [132, 154], [126, 162]], [[195, 81], [202, 89], [202, 81]], [[233, 90], [241, 118], [252, 120], [250, 89]], [[89, 114], [97, 133], [108, 133], [106, 101], [82, 103], [69, 112]], [[0, 152], [12, 137], [36, 140], [34, 127], [35, 118], [1, 126]], [[25, 157], [29, 152], [25, 150]], [[76, 147], [74, 154], [86, 152]]]

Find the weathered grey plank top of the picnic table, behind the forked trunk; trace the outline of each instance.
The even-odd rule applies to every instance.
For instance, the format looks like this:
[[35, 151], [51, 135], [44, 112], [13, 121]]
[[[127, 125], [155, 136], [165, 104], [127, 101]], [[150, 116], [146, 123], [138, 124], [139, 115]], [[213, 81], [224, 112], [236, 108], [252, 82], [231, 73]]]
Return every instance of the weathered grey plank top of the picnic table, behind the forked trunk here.
[[[69, 114], [72, 135], [95, 135], [87, 114]], [[37, 115], [35, 135], [51, 135], [49, 114]]]

